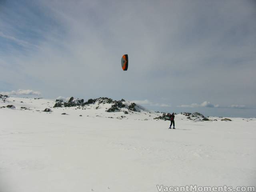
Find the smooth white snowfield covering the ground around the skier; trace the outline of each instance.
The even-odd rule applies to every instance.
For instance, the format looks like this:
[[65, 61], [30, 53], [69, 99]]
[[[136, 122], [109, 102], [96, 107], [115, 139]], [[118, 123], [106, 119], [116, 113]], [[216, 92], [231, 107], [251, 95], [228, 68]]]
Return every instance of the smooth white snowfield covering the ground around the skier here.
[[193, 122], [178, 114], [170, 130], [169, 121], [153, 120], [160, 114], [105, 112], [111, 104], [82, 110], [51, 108], [45, 99], [0, 100], [0, 107], [11, 104], [16, 109], [0, 108], [1, 192], [256, 184], [255, 118]]

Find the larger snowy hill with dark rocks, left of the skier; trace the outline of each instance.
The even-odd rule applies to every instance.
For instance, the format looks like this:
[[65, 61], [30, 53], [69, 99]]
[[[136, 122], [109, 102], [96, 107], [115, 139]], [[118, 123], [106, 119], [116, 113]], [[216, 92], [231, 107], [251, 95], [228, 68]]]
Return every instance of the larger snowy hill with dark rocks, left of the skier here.
[[83, 99], [73, 97], [67, 102], [59, 99], [54, 101], [43, 98], [2, 98], [0, 100], [0, 108], [4, 110], [7, 105], [13, 105], [16, 107], [16, 110], [24, 112], [50, 112], [53, 115], [66, 113], [80, 117], [153, 120], [160, 115], [138, 104], [123, 99], [116, 101], [110, 98], [89, 99], [86, 102]]

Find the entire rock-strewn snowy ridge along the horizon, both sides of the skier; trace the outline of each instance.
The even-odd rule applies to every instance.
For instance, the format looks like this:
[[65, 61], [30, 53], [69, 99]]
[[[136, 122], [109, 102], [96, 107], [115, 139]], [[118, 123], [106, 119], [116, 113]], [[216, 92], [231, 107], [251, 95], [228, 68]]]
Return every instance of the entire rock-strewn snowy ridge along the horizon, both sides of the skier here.
[[[8, 106], [8, 107], [7, 107]], [[170, 114], [163, 112], [154, 112], [148, 110], [139, 104], [135, 104], [124, 99], [116, 101], [111, 98], [101, 97], [84, 99], [70, 97], [67, 102], [62, 99], [49, 100], [44, 98], [18, 98], [0, 95], [0, 108], [11, 108], [16, 110], [26, 110], [30, 112], [51, 112], [52, 114], [76, 114], [78, 116], [107, 117], [118, 119], [139, 119], [139, 120], [170, 120]], [[48, 110], [46, 110], [48, 109]], [[194, 112], [182, 112], [175, 114], [175, 120], [186, 120], [192, 122], [198, 121], [229, 121], [242, 119], [246, 121], [255, 120], [255, 118], [222, 118], [208, 117]]]

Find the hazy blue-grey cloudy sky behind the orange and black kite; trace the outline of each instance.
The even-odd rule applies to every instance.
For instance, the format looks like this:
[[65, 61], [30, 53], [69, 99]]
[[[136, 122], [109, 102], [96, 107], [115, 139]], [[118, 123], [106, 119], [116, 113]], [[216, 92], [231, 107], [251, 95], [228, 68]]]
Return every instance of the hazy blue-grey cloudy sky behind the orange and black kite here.
[[255, 19], [254, 0], [0, 0], [0, 92], [256, 117]]

